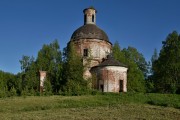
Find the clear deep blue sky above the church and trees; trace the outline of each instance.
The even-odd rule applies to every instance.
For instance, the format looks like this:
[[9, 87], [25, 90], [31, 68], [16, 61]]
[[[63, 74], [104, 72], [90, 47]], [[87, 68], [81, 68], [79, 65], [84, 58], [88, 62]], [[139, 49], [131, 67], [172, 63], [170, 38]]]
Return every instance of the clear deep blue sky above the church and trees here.
[[180, 33], [180, 0], [0, 0], [0, 70], [18, 73], [22, 55], [37, 56], [58, 39], [61, 49], [97, 9], [97, 25], [112, 43], [133, 46], [150, 60], [173, 30]]

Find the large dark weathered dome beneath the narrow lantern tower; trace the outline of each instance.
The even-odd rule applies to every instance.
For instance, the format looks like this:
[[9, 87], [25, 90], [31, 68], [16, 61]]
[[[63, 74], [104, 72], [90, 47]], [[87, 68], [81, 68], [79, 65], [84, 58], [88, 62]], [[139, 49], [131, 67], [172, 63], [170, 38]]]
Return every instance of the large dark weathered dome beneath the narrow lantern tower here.
[[107, 34], [95, 24], [85, 24], [74, 31], [71, 40], [79, 39], [99, 39], [109, 41]]

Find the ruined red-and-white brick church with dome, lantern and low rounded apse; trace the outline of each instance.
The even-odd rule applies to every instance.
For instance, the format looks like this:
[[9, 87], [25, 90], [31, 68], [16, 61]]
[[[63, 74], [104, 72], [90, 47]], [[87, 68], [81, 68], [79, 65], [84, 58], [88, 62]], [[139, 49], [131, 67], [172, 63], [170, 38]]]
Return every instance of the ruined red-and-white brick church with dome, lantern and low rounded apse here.
[[[97, 11], [90, 7], [83, 10], [84, 25], [71, 36], [72, 42], [85, 66], [84, 78], [88, 80], [93, 75], [96, 81], [95, 89], [102, 92], [127, 92], [127, 66], [112, 57], [112, 43], [107, 34], [96, 25]], [[44, 73], [40, 72], [40, 81]], [[40, 82], [41, 83], [41, 82]]]

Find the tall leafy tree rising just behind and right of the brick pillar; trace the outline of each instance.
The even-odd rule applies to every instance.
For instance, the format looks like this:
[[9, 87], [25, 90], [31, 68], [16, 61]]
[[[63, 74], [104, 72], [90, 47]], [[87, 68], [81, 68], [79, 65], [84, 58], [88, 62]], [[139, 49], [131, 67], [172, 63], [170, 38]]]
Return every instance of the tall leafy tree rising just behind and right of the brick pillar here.
[[58, 93], [62, 79], [62, 55], [57, 40], [43, 45], [36, 63], [39, 70], [47, 71], [47, 79], [51, 82], [53, 92]]

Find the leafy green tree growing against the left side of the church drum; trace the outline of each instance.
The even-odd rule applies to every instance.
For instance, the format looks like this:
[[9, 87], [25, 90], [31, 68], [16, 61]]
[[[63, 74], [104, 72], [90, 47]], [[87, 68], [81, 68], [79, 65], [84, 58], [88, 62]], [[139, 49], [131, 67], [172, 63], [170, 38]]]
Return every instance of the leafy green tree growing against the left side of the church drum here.
[[74, 44], [70, 42], [65, 49], [64, 80], [65, 91], [70, 95], [80, 95], [87, 90], [87, 81], [83, 79], [83, 62], [79, 54], [76, 53]]

